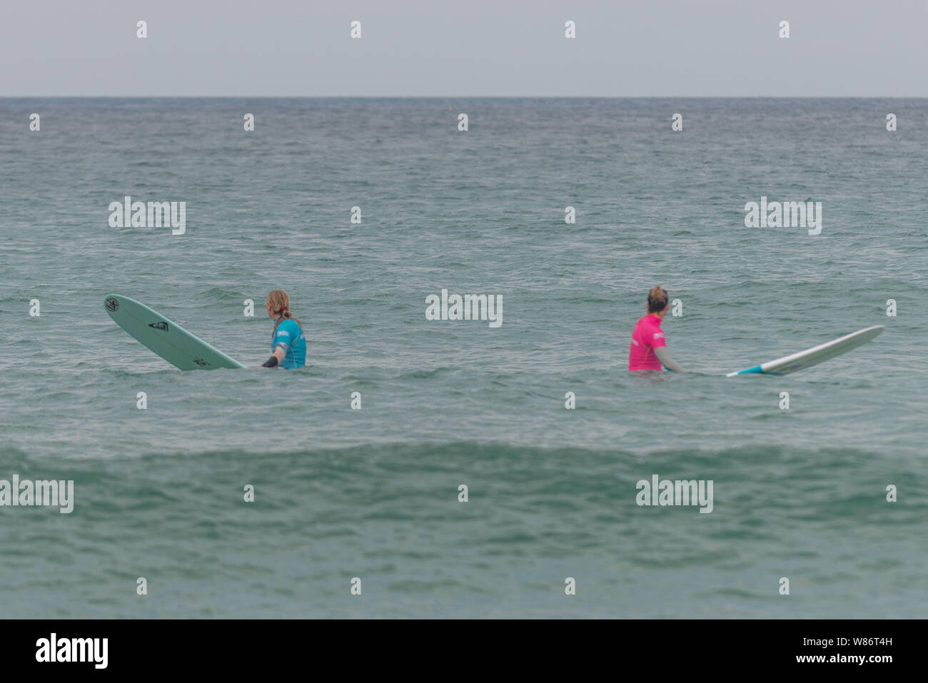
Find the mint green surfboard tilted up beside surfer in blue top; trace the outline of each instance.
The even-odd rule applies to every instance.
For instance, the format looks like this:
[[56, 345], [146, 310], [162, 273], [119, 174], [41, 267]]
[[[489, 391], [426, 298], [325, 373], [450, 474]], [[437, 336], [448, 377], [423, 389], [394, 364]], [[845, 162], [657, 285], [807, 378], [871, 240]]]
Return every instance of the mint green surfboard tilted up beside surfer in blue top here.
[[122, 329], [164, 360], [182, 370], [214, 370], [217, 367], [245, 367], [168, 320], [122, 294], [107, 294], [103, 306]]

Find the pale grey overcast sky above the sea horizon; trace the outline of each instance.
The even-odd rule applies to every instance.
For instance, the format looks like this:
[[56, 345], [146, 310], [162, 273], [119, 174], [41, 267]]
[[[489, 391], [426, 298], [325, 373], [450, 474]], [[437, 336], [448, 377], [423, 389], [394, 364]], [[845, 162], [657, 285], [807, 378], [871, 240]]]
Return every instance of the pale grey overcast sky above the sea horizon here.
[[30, 96], [928, 97], [928, 1], [0, 0]]

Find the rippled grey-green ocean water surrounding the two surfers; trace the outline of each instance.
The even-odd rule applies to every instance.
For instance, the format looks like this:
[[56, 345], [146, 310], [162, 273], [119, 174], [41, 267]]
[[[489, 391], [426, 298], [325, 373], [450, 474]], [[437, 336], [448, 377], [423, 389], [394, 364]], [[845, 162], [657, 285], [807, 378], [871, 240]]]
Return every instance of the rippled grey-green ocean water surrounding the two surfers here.
[[[0, 507], [0, 616], [926, 616], [926, 116], [0, 99], [0, 479], [74, 482], [70, 514]], [[126, 195], [186, 201], [185, 234], [111, 227]], [[821, 201], [821, 233], [745, 227], [761, 197]], [[655, 284], [691, 374], [627, 372]], [[103, 307], [256, 366], [274, 289], [303, 369], [181, 372]], [[443, 289], [500, 295], [502, 325], [427, 320]], [[870, 325], [818, 367], [724, 377]], [[712, 512], [638, 506], [654, 474], [711, 480]]]

